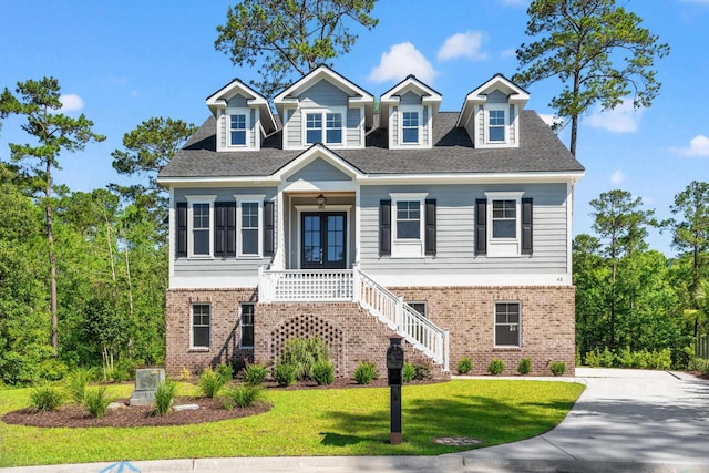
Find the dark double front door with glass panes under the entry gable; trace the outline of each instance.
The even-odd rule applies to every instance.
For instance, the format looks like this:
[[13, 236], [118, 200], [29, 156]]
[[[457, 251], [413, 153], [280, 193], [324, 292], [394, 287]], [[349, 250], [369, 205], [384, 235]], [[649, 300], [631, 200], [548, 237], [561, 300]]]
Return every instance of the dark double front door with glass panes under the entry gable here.
[[345, 269], [347, 264], [347, 214], [308, 212], [300, 223], [302, 269]]

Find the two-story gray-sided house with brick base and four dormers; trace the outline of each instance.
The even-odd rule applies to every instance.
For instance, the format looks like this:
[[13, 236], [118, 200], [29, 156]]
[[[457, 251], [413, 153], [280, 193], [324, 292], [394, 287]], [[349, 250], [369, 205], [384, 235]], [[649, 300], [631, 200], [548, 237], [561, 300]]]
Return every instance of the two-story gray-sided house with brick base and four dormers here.
[[439, 373], [574, 372], [572, 209], [584, 167], [497, 74], [442, 112], [319, 66], [268, 100], [238, 80], [158, 175], [169, 189], [166, 368], [273, 362], [317, 335], [339, 376], [392, 336]]

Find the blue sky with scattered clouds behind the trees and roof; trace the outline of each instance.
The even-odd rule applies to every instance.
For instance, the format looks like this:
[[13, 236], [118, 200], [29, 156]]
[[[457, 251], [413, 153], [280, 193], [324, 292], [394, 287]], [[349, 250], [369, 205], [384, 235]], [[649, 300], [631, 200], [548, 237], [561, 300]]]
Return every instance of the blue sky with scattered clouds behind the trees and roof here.
[[[123, 134], [151, 116], [202, 124], [207, 95], [233, 78], [255, 79], [214, 49], [216, 25], [229, 1], [0, 0], [0, 89], [52, 75], [64, 113], [84, 113], [106, 141], [60, 157], [55, 182], [91, 191], [126, 183], [111, 166]], [[588, 202], [621, 188], [643, 197], [657, 216], [671, 216], [676, 194], [692, 179], [709, 181], [709, 0], [618, 0], [644, 27], [670, 44], [656, 64], [662, 82], [650, 109], [585, 116], [577, 158], [586, 176], [576, 188], [574, 234], [593, 233]], [[501, 72], [516, 71], [514, 50], [525, 37], [528, 0], [380, 0], [380, 22], [359, 34], [335, 69], [376, 96], [409, 73], [443, 95], [441, 110], [460, 110], [467, 92]], [[551, 116], [555, 79], [531, 85], [527, 109]], [[18, 119], [0, 130], [0, 160], [8, 143], [24, 143]], [[568, 134], [559, 135], [568, 145]], [[653, 248], [670, 256], [670, 236], [653, 233]]]

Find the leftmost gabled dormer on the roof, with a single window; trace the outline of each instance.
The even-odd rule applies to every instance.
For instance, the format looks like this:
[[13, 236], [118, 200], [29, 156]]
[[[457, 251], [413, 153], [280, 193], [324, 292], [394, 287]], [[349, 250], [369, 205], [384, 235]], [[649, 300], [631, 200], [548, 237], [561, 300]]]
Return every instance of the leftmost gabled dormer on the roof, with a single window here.
[[216, 119], [217, 151], [257, 151], [276, 131], [268, 101], [238, 79], [207, 97]]

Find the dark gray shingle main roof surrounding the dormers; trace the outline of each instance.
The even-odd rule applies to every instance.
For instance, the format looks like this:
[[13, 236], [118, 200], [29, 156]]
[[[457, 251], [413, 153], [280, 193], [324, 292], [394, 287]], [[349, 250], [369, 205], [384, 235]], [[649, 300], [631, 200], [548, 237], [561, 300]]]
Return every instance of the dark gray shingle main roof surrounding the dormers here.
[[[389, 150], [387, 131], [376, 127], [367, 135], [366, 148], [332, 151], [367, 175], [584, 171], [534, 111], [522, 111], [520, 147], [510, 148], [474, 148], [467, 132], [455, 126], [458, 116], [458, 112], [434, 116], [432, 148]], [[217, 153], [215, 131], [215, 119], [207, 119], [158, 177], [268, 176], [304, 152], [281, 150], [279, 131], [265, 140], [260, 151]]]

